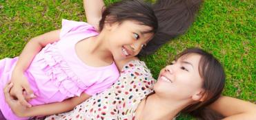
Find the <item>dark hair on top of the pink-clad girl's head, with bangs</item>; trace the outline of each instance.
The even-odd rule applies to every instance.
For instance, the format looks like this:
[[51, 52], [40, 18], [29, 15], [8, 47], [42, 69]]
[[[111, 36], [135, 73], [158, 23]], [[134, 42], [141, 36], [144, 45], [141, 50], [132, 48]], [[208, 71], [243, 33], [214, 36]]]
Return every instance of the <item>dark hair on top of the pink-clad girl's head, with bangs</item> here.
[[144, 33], [157, 32], [158, 22], [152, 6], [139, 0], [123, 0], [109, 5], [102, 13], [99, 31], [103, 29], [105, 23], [122, 23], [126, 20], [137, 21], [152, 28]]

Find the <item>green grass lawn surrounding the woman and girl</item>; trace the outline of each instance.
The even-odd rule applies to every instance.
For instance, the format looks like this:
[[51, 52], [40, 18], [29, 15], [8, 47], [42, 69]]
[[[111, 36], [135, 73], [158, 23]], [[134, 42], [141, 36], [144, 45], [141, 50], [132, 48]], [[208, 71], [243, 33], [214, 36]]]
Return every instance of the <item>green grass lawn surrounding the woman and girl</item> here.
[[[201, 47], [224, 64], [223, 94], [256, 104], [255, 12], [253, 0], [205, 1], [186, 34], [141, 60], [157, 77], [177, 53], [188, 47]], [[82, 0], [0, 0], [0, 59], [19, 56], [30, 38], [61, 28], [61, 19], [86, 21], [84, 13]]]

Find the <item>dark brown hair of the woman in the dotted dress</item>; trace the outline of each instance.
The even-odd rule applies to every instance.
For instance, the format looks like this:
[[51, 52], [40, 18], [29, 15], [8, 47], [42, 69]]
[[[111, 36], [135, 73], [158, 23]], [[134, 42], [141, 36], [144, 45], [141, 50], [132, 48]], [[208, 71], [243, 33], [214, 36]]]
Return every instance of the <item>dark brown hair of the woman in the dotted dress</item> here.
[[225, 72], [220, 62], [210, 53], [198, 48], [186, 49], [178, 56], [186, 56], [190, 53], [197, 53], [201, 56], [199, 61], [199, 74], [204, 80], [202, 88], [205, 90], [204, 101], [199, 101], [195, 104], [190, 104], [181, 112], [188, 113], [197, 117], [198, 119], [213, 120], [221, 119], [221, 115], [213, 110], [207, 108], [208, 105], [213, 104], [224, 89]]

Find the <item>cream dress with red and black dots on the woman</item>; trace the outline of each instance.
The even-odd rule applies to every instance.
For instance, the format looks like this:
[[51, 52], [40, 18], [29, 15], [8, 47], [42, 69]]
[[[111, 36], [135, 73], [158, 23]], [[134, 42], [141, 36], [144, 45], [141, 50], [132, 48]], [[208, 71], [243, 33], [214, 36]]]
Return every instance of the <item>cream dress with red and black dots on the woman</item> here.
[[144, 62], [133, 60], [121, 71], [119, 80], [108, 90], [90, 97], [70, 112], [51, 115], [53, 119], [133, 120], [139, 102], [152, 93], [155, 80]]

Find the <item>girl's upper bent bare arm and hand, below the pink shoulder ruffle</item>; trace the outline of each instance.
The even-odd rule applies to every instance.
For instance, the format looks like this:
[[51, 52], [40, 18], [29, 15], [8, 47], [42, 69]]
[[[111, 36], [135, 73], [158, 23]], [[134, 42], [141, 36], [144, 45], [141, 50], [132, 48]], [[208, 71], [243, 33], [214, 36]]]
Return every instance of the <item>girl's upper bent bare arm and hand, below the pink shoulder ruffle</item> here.
[[28, 84], [28, 80], [23, 73], [26, 71], [26, 69], [28, 69], [33, 58], [43, 47], [45, 47], [48, 43], [54, 43], [55, 41], [59, 40], [59, 31], [60, 30], [55, 30], [32, 38], [26, 44], [19, 56], [19, 60], [17, 61], [17, 64], [12, 72], [11, 81], [14, 83], [14, 86], [12, 87], [10, 94], [17, 97], [24, 106], [30, 106], [30, 104], [28, 104], [23, 97], [22, 91], [25, 90], [28, 95], [32, 95], [33, 93]]

